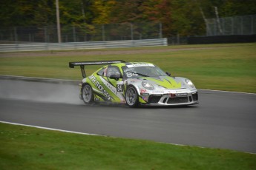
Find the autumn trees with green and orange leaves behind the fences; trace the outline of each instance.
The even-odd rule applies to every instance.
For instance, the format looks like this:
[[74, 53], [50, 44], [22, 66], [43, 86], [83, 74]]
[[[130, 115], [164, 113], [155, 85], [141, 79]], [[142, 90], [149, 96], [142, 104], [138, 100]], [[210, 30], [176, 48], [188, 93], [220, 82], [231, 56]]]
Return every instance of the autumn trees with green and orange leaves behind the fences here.
[[[163, 24], [163, 35], [205, 35], [204, 18], [256, 14], [255, 0], [59, 0], [62, 25]], [[1, 0], [1, 27], [56, 24], [55, 0]]]

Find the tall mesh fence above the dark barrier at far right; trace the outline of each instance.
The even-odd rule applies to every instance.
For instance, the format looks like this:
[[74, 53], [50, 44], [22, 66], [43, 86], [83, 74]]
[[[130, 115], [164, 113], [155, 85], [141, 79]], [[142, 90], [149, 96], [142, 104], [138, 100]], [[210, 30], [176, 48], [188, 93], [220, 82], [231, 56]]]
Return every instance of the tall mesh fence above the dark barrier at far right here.
[[207, 36], [256, 34], [256, 15], [206, 19]]

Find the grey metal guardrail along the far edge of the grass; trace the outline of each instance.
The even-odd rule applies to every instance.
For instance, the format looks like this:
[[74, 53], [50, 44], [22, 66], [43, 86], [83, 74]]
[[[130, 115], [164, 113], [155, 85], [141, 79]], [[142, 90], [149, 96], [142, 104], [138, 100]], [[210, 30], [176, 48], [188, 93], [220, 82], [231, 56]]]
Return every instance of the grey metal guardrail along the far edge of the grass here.
[[0, 44], [0, 52], [82, 50], [119, 47], [167, 46], [167, 38], [126, 40], [126, 41], [85, 41], [70, 43]]

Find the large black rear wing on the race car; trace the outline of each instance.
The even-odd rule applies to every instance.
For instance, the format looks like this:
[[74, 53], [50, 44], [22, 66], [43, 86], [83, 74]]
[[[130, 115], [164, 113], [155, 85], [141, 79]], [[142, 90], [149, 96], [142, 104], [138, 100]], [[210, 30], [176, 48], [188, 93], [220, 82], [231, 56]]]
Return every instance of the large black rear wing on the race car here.
[[82, 72], [82, 77], [86, 78], [85, 74], [85, 66], [88, 65], [103, 65], [103, 64], [116, 64], [116, 63], [125, 63], [125, 61], [122, 60], [115, 60], [115, 61], [79, 61], [79, 62], [69, 62], [69, 67], [74, 68], [76, 66], [79, 66]]

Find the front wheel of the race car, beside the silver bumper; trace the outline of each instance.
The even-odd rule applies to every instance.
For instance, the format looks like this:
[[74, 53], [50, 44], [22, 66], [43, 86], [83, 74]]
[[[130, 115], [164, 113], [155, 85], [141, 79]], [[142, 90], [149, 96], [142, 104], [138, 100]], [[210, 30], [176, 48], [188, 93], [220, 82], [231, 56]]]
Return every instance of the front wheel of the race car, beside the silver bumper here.
[[137, 107], [139, 105], [139, 95], [134, 86], [128, 86], [125, 91], [125, 101], [129, 107]]

